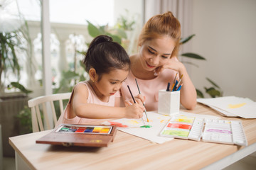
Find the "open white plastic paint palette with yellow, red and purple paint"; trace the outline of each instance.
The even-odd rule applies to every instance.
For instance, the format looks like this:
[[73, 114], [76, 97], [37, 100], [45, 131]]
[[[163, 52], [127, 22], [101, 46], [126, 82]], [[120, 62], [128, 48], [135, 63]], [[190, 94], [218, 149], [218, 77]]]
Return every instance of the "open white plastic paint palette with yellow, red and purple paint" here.
[[162, 137], [247, 146], [239, 120], [194, 118], [175, 115], [161, 130]]

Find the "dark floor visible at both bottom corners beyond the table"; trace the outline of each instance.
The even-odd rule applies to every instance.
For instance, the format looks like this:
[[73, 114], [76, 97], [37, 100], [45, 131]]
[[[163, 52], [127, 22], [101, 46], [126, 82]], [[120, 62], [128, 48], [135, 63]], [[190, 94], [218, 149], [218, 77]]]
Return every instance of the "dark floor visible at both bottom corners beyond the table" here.
[[[15, 159], [13, 157], [4, 157], [3, 170], [15, 170]], [[255, 170], [256, 152], [241, 159], [239, 162], [226, 167], [224, 170]], [[1, 169], [1, 168], [0, 168]]]

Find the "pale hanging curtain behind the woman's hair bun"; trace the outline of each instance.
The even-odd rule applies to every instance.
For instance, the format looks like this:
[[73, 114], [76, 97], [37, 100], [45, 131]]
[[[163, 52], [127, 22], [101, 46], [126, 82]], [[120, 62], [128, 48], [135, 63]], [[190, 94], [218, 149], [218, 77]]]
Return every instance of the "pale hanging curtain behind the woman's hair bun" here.
[[[165, 13], [166, 11], [171, 11], [174, 13], [174, 16], [178, 18], [178, 21], [181, 23], [181, 38], [186, 38], [191, 33], [192, 30], [192, 5], [193, 1], [191, 0], [145, 0], [144, 8], [144, 22], [149, 20], [151, 16], [156, 14]], [[191, 43], [182, 45], [180, 53], [189, 52]], [[189, 62], [189, 59], [179, 57], [181, 62]], [[186, 64], [185, 64], [186, 65]], [[186, 65], [188, 72], [190, 71], [190, 65]]]

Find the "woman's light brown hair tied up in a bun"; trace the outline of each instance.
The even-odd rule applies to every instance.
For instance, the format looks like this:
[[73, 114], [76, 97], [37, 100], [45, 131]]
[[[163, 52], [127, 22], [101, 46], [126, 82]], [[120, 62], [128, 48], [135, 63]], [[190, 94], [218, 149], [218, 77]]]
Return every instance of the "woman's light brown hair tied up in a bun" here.
[[164, 35], [168, 35], [174, 39], [175, 47], [171, 53], [171, 57], [177, 56], [179, 41], [181, 39], [181, 24], [170, 11], [152, 16], [149, 21], [145, 23], [139, 35], [138, 45], [140, 46], [147, 40], [160, 38]]

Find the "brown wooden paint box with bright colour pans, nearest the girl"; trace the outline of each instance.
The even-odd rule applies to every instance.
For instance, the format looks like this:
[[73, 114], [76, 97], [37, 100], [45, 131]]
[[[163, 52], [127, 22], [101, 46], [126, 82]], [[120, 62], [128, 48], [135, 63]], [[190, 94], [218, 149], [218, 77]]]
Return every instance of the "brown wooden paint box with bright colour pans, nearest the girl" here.
[[112, 125], [61, 124], [48, 135], [36, 140], [39, 144], [107, 147], [113, 142], [117, 127]]

